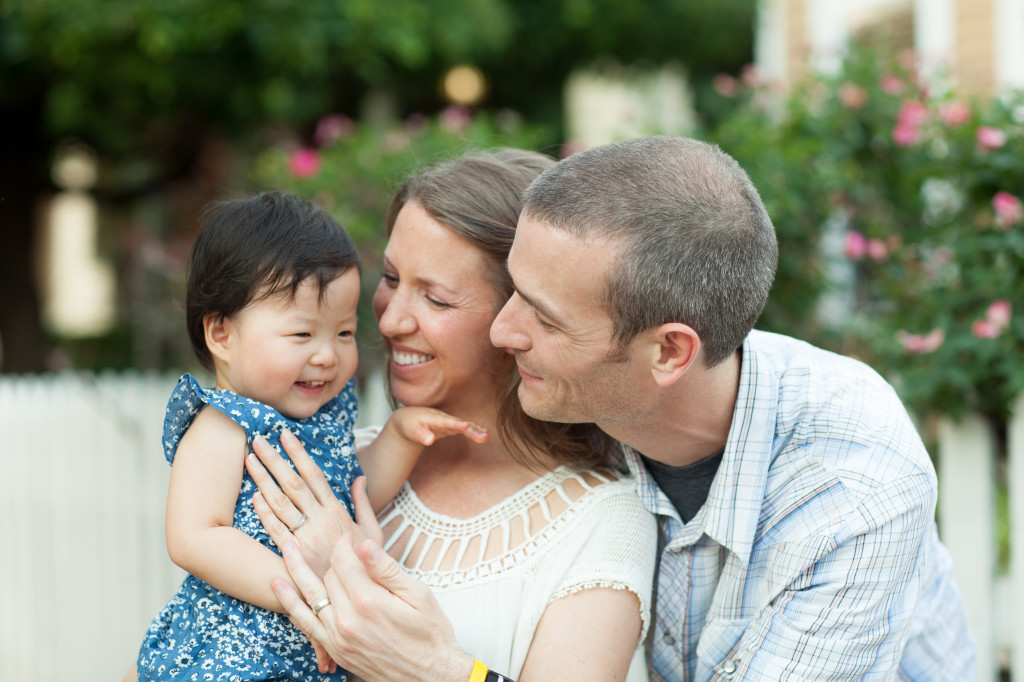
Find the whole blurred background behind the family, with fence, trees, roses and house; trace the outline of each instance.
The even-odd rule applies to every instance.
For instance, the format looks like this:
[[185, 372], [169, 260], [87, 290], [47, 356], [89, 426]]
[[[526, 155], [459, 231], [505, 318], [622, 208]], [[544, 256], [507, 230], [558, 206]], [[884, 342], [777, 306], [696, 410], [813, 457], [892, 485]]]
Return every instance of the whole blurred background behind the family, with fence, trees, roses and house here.
[[1024, 0], [3, 3], [0, 678], [120, 676], [180, 578], [159, 434], [197, 370], [183, 268], [206, 204], [313, 199], [369, 294], [410, 172], [653, 133], [720, 144], [761, 190], [781, 253], [759, 327], [897, 387], [979, 679], [1024, 676], [1022, 88]]

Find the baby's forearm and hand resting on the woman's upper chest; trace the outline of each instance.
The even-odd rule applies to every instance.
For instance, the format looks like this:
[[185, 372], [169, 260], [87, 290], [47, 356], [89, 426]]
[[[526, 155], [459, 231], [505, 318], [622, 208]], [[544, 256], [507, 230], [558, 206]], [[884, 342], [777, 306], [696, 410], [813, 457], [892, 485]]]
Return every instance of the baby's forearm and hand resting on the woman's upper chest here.
[[372, 443], [357, 454], [367, 474], [367, 496], [379, 512], [409, 478], [424, 446], [457, 433], [483, 442], [487, 430], [432, 408], [398, 408]]

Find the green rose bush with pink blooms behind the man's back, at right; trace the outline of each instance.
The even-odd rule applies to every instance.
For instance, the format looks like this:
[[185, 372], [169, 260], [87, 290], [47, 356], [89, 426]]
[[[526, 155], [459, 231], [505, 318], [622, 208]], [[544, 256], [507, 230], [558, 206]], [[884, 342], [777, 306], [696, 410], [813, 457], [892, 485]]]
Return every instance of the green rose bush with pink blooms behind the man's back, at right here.
[[[1024, 389], [1024, 95], [959, 98], [906, 61], [856, 52], [783, 99], [750, 89], [716, 129], [779, 232], [763, 322], [863, 357], [919, 411], [1000, 418]], [[846, 262], [822, 269], [829, 223]], [[822, 273], [851, 268], [846, 314], [811, 322], [817, 287], [843, 286]]]

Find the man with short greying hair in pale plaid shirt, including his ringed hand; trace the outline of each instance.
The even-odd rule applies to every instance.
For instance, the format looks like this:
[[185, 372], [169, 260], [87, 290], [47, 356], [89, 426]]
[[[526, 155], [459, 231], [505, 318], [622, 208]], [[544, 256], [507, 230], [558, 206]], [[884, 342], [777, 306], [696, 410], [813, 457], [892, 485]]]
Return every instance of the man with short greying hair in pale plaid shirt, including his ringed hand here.
[[[776, 256], [757, 190], [717, 147], [588, 150], [527, 190], [492, 340], [515, 353], [528, 414], [624, 444], [658, 517], [652, 679], [973, 679], [935, 473], [899, 399], [855, 360], [751, 331]], [[336, 609], [341, 632], [285, 591], [300, 625], [374, 679], [478, 670], [429, 595], [371, 544], [351, 549], [331, 581], [370, 596]]]

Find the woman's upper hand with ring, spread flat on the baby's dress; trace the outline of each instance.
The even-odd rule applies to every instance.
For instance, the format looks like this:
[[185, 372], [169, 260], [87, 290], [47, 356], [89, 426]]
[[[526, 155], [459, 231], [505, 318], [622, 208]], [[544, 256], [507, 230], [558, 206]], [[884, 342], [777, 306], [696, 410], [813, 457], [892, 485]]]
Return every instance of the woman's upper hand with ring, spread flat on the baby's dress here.
[[278, 547], [295, 543], [305, 562], [323, 577], [342, 535], [382, 542], [383, 532], [367, 499], [366, 478], [360, 476], [352, 483], [353, 522], [299, 439], [285, 431], [281, 443], [295, 465], [294, 470], [259, 436], [253, 439], [255, 455], [246, 457], [246, 469], [259, 487], [259, 493], [253, 496], [253, 507]]

